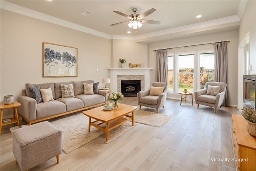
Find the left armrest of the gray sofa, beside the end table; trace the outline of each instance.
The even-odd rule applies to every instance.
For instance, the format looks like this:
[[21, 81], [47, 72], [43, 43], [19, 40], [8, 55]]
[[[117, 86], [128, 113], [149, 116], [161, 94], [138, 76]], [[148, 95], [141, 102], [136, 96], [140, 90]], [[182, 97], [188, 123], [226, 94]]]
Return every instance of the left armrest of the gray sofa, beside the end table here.
[[20, 95], [18, 102], [21, 104], [18, 107], [19, 114], [28, 121], [36, 120], [36, 100], [26, 95]]

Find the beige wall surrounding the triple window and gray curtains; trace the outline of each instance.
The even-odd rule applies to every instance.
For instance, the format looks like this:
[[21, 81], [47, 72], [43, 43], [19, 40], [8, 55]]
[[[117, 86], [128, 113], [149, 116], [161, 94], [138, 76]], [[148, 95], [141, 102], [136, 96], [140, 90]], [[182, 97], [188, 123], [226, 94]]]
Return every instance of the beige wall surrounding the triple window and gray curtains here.
[[[187, 46], [194, 44], [204, 44], [210, 42], [220, 42], [230, 40], [228, 43], [228, 97], [229, 104], [232, 106], [237, 105], [237, 46], [238, 46], [238, 31], [220, 32], [214, 34], [206, 34], [201, 36], [193, 36], [187, 38], [180, 38], [175, 40], [168, 40], [162, 42], [154, 42], [148, 44], [149, 51], [149, 67], [153, 67], [151, 72], [151, 81], [156, 80], [156, 55], [154, 50], [172, 48], [179, 46]], [[172, 52], [188, 52], [194, 50], [213, 50], [213, 45], [206, 46], [193, 46], [187, 48], [178, 48], [168, 50], [168, 53]], [[178, 98], [175, 94], [169, 94], [169, 97]]]

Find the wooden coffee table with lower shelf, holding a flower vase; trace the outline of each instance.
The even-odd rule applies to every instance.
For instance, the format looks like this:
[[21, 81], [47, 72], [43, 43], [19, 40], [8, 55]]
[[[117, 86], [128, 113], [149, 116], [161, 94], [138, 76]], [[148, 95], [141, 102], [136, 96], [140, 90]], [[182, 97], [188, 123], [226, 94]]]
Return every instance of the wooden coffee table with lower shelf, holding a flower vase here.
[[[106, 133], [106, 141], [108, 141], [108, 132], [112, 129], [122, 125], [128, 120], [132, 120], [132, 126], [134, 126], [134, 111], [137, 106], [125, 105], [119, 103], [118, 108], [113, 110], [103, 110], [103, 107], [97, 107], [87, 111], [83, 111], [84, 115], [89, 117], [90, 132], [91, 125], [104, 131]], [[129, 113], [132, 113], [129, 115]], [[91, 121], [95, 119], [96, 121]]]

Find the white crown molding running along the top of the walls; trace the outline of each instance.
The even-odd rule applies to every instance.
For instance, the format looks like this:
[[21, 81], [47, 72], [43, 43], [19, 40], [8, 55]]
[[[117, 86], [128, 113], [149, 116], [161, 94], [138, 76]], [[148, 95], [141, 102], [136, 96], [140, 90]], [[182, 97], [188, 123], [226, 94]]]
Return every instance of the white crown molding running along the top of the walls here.
[[[239, 9], [238, 9], [238, 11], [241, 11], [241, 12], [239, 12], [239, 15], [242, 15], [242, 12], [244, 11], [244, 8], [246, 6], [246, 2], [247, 2], [247, 0], [241, 0], [240, 5], [239, 5]], [[140, 40], [140, 39], [144, 39], [144, 38], [152, 38], [152, 37], [156, 37], [156, 36], [163, 36], [163, 35], [166, 35], [166, 34], [180, 33], [180, 32], [184, 32], [184, 31], [206, 28], [206, 27], [211, 27], [211, 26], [213, 27], [213, 26], [217, 26], [217, 25], [224, 25], [224, 24], [229, 24], [229, 23], [232, 23], [232, 22], [239, 22], [240, 21], [239, 16], [234, 15], [234, 16], [228, 16], [228, 17], [224, 17], [224, 18], [209, 20], [209, 21], [206, 21], [206, 22], [199, 22], [199, 23], [195, 23], [195, 24], [179, 26], [179, 27], [170, 28], [170, 29], [166, 29], [166, 30], [160, 30], [160, 31], [156, 31], [156, 32], [140, 34], [138, 36], [124, 36], [124, 35], [110, 35], [110, 34], [106, 34], [104, 32], [99, 32], [97, 30], [87, 28], [87, 27], [84, 27], [84, 26], [81, 26], [79, 24], [75, 24], [75, 23], [72, 23], [72, 22], [68, 22], [66, 20], [62, 20], [60, 18], [50, 16], [48, 14], [37, 12], [37, 11], [31, 10], [29, 8], [18, 6], [16, 4], [6, 2], [4, 0], [0, 0], [0, 8], [4, 9], [4, 10], [11, 11], [11, 12], [15, 12], [15, 13], [18, 13], [18, 14], [22, 14], [22, 15], [25, 15], [25, 16], [29, 16], [29, 17], [32, 17], [32, 18], [36, 18], [36, 19], [39, 19], [39, 20], [43, 20], [43, 21], [46, 21], [46, 22], [50, 22], [50, 23], [53, 23], [53, 24], [57, 24], [57, 25], [60, 25], [60, 26], [64, 26], [64, 27], [67, 27], [67, 28], [71, 28], [71, 29], [74, 29], [74, 30], [78, 30], [78, 31], [81, 31], [81, 32], [86, 32], [88, 34], [93, 34], [93, 35], [96, 35], [96, 36], [100, 36], [100, 37], [103, 37], [103, 38], [123, 39], [123, 40]]]

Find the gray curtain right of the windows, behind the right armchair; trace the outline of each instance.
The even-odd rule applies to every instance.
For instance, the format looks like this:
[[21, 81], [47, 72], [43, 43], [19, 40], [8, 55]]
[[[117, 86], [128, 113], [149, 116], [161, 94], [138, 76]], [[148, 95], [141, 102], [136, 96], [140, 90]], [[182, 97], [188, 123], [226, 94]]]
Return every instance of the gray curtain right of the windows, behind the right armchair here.
[[[219, 42], [214, 44], [215, 54], [215, 81], [228, 84], [228, 50], [227, 42]], [[223, 106], [228, 105], [228, 89], [226, 89]]]

